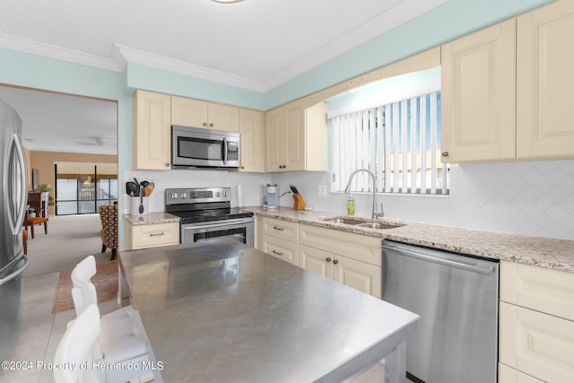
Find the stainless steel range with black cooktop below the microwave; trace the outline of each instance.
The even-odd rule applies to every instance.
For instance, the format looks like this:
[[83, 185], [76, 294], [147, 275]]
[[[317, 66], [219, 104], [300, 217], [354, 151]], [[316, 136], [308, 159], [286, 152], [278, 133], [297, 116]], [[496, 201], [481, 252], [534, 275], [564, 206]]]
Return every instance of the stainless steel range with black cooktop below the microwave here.
[[253, 213], [231, 207], [230, 187], [168, 188], [165, 201], [181, 218], [179, 243], [230, 237], [253, 247]]

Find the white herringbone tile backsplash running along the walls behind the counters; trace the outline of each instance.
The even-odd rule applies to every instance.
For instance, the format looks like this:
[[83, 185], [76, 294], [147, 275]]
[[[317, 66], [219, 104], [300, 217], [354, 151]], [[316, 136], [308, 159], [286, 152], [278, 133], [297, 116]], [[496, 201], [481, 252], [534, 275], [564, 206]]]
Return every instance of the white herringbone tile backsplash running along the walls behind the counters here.
[[[315, 210], [346, 213], [347, 196], [329, 192], [328, 172], [125, 171], [124, 182], [134, 176], [155, 182], [150, 212], [164, 210], [166, 187], [231, 187], [231, 204], [237, 205], [241, 184], [244, 205], [261, 205], [262, 186], [274, 182], [280, 193], [290, 184], [298, 187]], [[384, 204], [390, 219], [574, 239], [574, 161], [456, 165], [450, 179], [449, 196], [378, 195], [378, 204]], [[326, 187], [326, 198], [317, 196], [320, 186]], [[356, 213], [369, 216], [371, 195], [353, 196]], [[280, 205], [292, 206], [291, 196], [283, 196]], [[127, 204], [123, 206], [126, 210]]]

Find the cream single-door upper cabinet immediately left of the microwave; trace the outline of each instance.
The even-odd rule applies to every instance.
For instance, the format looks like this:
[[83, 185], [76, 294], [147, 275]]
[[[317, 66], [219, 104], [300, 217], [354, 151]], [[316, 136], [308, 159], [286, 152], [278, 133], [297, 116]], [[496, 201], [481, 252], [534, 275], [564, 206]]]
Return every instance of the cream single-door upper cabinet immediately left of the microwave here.
[[135, 91], [134, 169], [170, 170], [170, 96]]

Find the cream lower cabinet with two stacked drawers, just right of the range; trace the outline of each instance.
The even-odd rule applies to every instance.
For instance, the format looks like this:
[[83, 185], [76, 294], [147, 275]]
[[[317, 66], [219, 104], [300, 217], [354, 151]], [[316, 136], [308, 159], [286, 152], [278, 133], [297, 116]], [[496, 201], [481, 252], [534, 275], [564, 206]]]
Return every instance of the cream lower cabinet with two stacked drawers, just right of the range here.
[[297, 265], [298, 226], [297, 222], [263, 217], [261, 219], [261, 250]]

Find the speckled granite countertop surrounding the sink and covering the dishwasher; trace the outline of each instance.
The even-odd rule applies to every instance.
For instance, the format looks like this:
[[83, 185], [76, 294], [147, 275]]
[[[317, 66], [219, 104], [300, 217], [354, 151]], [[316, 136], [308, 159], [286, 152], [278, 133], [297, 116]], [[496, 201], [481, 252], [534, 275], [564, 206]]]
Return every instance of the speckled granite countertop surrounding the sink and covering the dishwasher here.
[[[402, 222], [396, 220], [377, 220], [404, 226], [394, 229], [370, 229], [351, 226], [344, 223], [325, 222], [334, 217], [356, 218], [353, 215], [296, 211], [290, 207], [266, 209], [260, 206], [246, 207], [256, 215], [277, 218], [285, 221], [300, 222], [313, 226], [348, 231], [381, 239], [407, 242], [413, 245], [427, 246], [479, 257], [500, 259], [525, 265], [535, 265], [553, 270], [574, 273], [574, 240], [530, 237], [495, 231], [477, 231], [471, 229], [439, 226], [433, 224]], [[375, 222], [367, 217], [361, 217]]]

